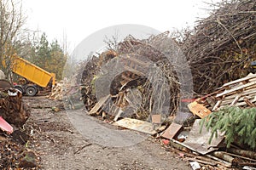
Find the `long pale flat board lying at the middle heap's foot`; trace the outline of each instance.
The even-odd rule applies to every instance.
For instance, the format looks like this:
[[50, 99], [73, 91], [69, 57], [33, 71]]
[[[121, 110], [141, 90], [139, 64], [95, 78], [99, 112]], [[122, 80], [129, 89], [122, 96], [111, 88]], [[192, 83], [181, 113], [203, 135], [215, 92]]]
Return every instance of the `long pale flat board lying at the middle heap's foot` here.
[[150, 122], [144, 122], [137, 119], [131, 119], [125, 117], [124, 119], [121, 119], [117, 122], [114, 122], [113, 125], [119, 126], [119, 127], [125, 127], [132, 130], [136, 130], [138, 132], [142, 133], [148, 133], [150, 135], [154, 135], [157, 133], [157, 131], [154, 129], [154, 125]]

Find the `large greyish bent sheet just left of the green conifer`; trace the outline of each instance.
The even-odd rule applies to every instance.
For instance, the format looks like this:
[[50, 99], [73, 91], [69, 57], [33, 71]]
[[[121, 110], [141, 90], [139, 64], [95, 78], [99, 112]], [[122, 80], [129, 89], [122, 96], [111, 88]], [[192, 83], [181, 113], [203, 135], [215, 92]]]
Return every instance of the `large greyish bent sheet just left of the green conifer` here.
[[183, 144], [187, 144], [196, 152], [206, 155], [213, 150], [218, 150], [218, 145], [223, 141], [224, 135], [219, 133], [218, 138], [212, 138], [212, 142], [209, 144], [209, 139], [212, 133], [211, 131], [207, 131], [206, 127], [202, 127], [201, 129], [200, 121], [201, 119], [195, 120], [194, 125], [189, 132], [189, 137]]

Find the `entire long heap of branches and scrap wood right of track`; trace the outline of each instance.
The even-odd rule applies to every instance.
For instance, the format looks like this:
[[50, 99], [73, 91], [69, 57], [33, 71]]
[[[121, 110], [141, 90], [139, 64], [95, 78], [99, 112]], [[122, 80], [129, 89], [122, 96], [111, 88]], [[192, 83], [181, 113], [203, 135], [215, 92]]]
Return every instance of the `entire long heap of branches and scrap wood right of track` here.
[[[170, 60], [163, 53], [170, 48], [167, 45], [172, 39], [169, 32], [143, 40], [130, 35], [117, 47], [99, 57], [92, 56], [81, 65], [77, 82], [81, 83], [79, 92], [88, 114], [102, 116], [119, 127], [162, 138], [164, 144], [180, 150], [176, 150], [177, 153], [192, 161], [195, 169], [201, 166], [253, 169], [256, 166], [256, 120], [253, 120], [256, 116], [253, 110], [240, 108], [256, 106], [256, 75], [245, 77], [251, 71], [249, 63], [256, 59], [256, 3], [235, 0], [218, 5], [207, 19], [199, 22], [195, 31], [188, 32], [182, 42], [177, 41], [191, 66], [195, 94], [206, 96], [187, 99], [195, 101], [188, 109], [183, 108], [187, 96], [181, 89], [183, 84], [188, 87], [190, 84], [181, 82], [179, 77], [179, 71], [187, 69], [183, 62], [177, 65], [178, 57], [168, 53]], [[192, 77], [183, 77], [189, 78]], [[233, 110], [233, 106], [240, 108]], [[231, 109], [224, 110], [227, 107]], [[235, 124], [229, 119], [239, 111], [249, 112], [253, 117], [247, 129], [253, 133], [249, 143], [238, 139], [241, 144], [236, 144], [234, 138], [235, 132], [239, 132], [237, 137], [246, 134], [241, 121], [246, 114], [238, 116]], [[224, 116], [222, 121], [219, 115]], [[187, 123], [174, 120], [177, 116], [182, 116]], [[201, 125], [198, 118], [206, 122], [207, 127]], [[220, 122], [224, 123], [221, 128], [216, 126]], [[230, 124], [238, 125], [233, 133], [226, 131]], [[218, 138], [213, 138], [213, 134], [218, 134]]]

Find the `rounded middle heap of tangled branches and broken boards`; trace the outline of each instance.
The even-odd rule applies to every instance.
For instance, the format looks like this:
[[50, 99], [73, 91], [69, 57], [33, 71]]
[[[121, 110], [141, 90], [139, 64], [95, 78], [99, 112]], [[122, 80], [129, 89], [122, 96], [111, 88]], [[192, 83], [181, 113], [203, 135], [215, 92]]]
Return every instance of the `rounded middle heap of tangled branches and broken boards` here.
[[90, 115], [107, 112], [114, 120], [119, 116], [151, 120], [151, 115], [168, 117], [177, 112], [177, 73], [170, 60], [153, 48], [154, 43], [169, 40], [168, 33], [145, 40], [126, 37], [116, 51], [84, 63], [81, 93]]

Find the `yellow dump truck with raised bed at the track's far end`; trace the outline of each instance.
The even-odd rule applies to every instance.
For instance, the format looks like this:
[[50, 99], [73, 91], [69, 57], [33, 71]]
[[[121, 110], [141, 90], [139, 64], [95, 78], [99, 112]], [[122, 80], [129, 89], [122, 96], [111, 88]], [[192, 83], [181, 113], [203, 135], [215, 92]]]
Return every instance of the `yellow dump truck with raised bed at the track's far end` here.
[[55, 74], [44, 71], [44, 69], [33, 65], [26, 59], [22, 59], [17, 55], [12, 59], [12, 71], [26, 79], [26, 83], [15, 84], [15, 88], [20, 90], [22, 94], [34, 96], [43, 88], [55, 86]]

